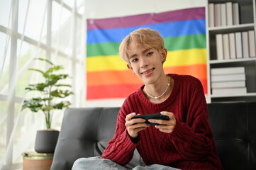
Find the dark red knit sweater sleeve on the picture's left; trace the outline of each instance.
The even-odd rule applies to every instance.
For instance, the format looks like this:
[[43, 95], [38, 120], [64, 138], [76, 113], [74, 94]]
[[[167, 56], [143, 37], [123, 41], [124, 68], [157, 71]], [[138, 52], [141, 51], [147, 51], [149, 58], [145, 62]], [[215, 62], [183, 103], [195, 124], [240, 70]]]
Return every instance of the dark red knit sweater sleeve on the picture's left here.
[[111, 159], [111, 161], [125, 166], [133, 158], [133, 152], [137, 146], [130, 140], [127, 134], [125, 121], [126, 113], [124, 113], [123, 106], [118, 113], [116, 123], [116, 132], [113, 138], [108, 142], [108, 146], [104, 150], [101, 157], [104, 159]]

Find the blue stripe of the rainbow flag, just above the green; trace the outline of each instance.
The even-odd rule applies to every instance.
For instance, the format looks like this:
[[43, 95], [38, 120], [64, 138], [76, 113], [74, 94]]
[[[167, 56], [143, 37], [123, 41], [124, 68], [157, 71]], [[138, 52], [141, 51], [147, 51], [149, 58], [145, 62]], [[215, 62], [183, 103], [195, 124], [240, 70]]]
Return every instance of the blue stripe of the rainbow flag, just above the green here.
[[133, 30], [138, 28], [150, 28], [157, 30], [163, 38], [177, 37], [182, 35], [205, 34], [205, 19], [189, 21], [175, 21], [169, 23], [158, 23], [129, 28], [114, 28], [107, 30], [87, 30], [87, 44], [103, 42], [121, 42]]

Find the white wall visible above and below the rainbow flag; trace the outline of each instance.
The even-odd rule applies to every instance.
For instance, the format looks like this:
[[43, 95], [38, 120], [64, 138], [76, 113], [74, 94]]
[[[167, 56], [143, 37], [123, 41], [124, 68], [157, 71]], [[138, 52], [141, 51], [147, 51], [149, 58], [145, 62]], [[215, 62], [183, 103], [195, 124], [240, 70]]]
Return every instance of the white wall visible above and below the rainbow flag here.
[[[86, 0], [87, 18], [112, 18], [206, 6], [206, 0]], [[123, 99], [86, 101], [87, 107], [118, 107]]]

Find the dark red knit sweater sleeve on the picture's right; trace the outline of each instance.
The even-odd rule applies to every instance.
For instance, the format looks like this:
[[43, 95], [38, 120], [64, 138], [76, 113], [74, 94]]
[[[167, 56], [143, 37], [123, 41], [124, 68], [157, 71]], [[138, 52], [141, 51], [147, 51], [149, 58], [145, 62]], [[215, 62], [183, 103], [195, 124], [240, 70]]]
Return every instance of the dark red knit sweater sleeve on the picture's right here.
[[204, 159], [213, 152], [213, 134], [208, 123], [208, 108], [200, 81], [189, 89], [187, 121], [177, 120], [169, 139], [187, 159]]

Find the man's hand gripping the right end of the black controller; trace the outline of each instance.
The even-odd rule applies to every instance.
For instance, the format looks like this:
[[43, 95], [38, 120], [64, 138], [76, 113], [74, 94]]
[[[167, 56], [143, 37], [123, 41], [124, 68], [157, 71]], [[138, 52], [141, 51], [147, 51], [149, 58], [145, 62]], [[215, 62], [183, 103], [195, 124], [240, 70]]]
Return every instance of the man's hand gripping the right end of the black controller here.
[[174, 118], [173, 113], [163, 111], [161, 112], [161, 114], [167, 115], [169, 117], [169, 120], [150, 119], [148, 121], [151, 123], [163, 124], [163, 125], [156, 125], [155, 128], [157, 128], [161, 132], [171, 133], [174, 130], [174, 127], [176, 125], [176, 119]]

